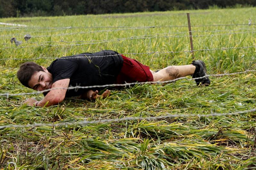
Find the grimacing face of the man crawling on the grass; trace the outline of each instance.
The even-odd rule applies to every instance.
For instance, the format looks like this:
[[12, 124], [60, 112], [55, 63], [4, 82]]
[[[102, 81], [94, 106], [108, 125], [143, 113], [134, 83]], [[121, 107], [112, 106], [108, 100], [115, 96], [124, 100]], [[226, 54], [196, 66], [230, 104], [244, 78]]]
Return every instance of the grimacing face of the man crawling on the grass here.
[[49, 73], [46, 68], [42, 68], [44, 69], [44, 71], [34, 73], [31, 76], [31, 79], [28, 81], [29, 87], [37, 91], [52, 88], [52, 74]]

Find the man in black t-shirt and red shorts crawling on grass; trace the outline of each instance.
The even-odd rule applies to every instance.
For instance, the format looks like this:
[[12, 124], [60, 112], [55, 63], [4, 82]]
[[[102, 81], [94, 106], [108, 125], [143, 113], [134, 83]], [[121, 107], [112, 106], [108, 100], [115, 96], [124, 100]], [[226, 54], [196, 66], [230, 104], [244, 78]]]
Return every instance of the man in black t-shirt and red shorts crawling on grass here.
[[[100, 88], [65, 89], [71, 86], [168, 81], [187, 75], [192, 75], [193, 78], [205, 76], [204, 62], [196, 60], [190, 65], [169, 66], [154, 72], [148, 66], [111, 50], [62, 57], [54, 60], [47, 68], [34, 62], [25, 62], [20, 65], [17, 72], [20, 82], [28, 88], [37, 91], [63, 88], [50, 90], [40, 101], [36, 101], [34, 98], [25, 101], [28, 105], [41, 107], [46, 103], [46, 106], [57, 105], [65, 97], [80, 96], [82, 99], [95, 100], [98, 97], [106, 98], [110, 94], [110, 90], [106, 90], [102, 95], [98, 95]], [[208, 77], [196, 79], [196, 84], [207, 86], [210, 84], [210, 80]]]

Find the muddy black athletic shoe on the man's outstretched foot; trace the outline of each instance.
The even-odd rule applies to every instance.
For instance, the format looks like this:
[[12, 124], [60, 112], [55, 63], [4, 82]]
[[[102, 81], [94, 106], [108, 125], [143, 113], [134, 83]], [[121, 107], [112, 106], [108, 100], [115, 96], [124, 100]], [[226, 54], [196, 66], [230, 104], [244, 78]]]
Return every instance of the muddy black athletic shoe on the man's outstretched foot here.
[[[192, 75], [192, 78], [203, 77], [207, 75], [204, 61], [201, 61], [201, 60], [192, 61], [192, 65], [199, 67], [199, 70], [196, 69], [195, 73]], [[195, 79], [195, 81], [197, 86], [199, 86], [200, 83], [201, 85], [209, 86], [211, 83], [208, 76], [201, 79]]]

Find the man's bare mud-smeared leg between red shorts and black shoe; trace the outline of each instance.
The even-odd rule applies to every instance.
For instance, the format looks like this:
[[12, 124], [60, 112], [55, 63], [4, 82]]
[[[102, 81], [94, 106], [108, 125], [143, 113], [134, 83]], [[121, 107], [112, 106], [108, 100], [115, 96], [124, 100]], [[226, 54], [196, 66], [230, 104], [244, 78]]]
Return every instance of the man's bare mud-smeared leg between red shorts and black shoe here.
[[169, 66], [158, 72], [150, 71], [153, 74], [154, 81], [168, 81], [187, 75], [193, 75], [195, 70], [196, 66], [190, 64], [185, 66]]

